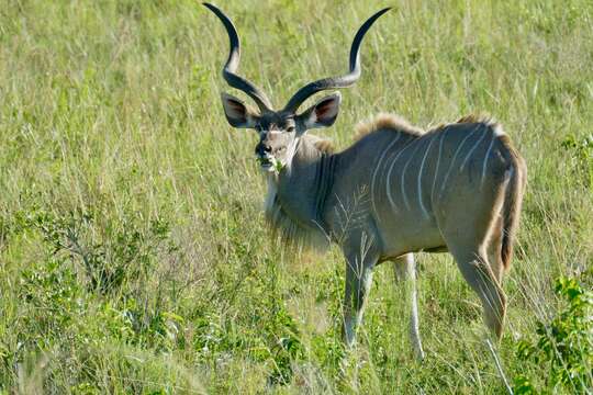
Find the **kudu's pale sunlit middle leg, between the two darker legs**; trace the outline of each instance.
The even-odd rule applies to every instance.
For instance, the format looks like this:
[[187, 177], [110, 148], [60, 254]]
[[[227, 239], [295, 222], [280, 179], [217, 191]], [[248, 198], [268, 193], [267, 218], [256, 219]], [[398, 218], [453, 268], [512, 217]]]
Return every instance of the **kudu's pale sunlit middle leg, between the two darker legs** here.
[[399, 283], [404, 285], [406, 308], [410, 308], [410, 340], [418, 360], [424, 359], [419, 336], [418, 300], [416, 289], [416, 263], [413, 253], [393, 260], [393, 271]]

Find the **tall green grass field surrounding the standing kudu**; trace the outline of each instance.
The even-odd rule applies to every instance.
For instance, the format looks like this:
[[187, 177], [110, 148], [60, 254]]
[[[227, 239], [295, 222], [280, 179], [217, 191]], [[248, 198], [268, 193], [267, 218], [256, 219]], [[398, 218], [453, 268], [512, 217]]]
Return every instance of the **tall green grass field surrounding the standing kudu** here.
[[[497, 356], [512, 384], [591, 391], [591, 354], [559, 385], [517, 350], [566, 308], [558, 276], [593, 285], [593, 2], [220, 2], [240, 72], [277, 106], [345, 71], [354, 32], [385, 4], [318, 134], [344, 148], [381, 111], [425, 128], [499, 120], [528, 187]], [[222, 112], [220, 92], [237, 94], [226, 56], [195, 1], [0, 8], [0, 393], [505, 393], [449, 255], [418, 255], [423, 363], [387, 266], [344, 349], [342, 256], [270, 242], [256, 135]]]

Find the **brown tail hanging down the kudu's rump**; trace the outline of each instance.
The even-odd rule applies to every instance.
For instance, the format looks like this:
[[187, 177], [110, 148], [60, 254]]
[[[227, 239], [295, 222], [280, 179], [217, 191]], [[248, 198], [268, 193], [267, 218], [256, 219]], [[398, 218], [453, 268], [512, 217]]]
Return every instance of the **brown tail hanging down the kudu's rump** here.
[[501, 136], [503, 145], [507, 148], [511, 159], [510, 180], [506, 188], [506, 195], [503, 204], [503, 235], [501, 258], [505, 271], [511, 267], [513, 258], [513, 242], [518, 227], [521, 206], [523, 203], [523, 192], [525, 190], [525, 181], [527, 168], [523, 158], [511, 146], [511, 142], [506, 136]]

